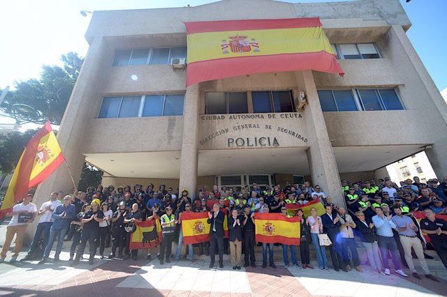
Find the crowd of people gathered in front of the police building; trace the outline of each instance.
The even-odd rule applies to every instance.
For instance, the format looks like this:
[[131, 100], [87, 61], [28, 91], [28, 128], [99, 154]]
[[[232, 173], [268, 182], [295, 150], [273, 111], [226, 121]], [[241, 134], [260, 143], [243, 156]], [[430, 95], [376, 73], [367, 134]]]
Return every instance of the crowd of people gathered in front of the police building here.
[[[439, 183], [436, 179], [428, 184], [420, 183], [415, 176], [413, 181], [407, 179], [400, 185], [390, 178], [350, 182], [342, 180], [342, 195], [345, 204], [337, 205], [332, 197], [325, 195], [319, 185], [309, 182], [303, 185], [286, 182], [285, 186], [265, 186], [261, 189], [256, 183], [242, 188], [218, 188], [213, 185], [208, 190], [206, 185], [191, 199], [187, 189], [174, 190], [160, 185], [154, 189], [149, 184], [118, 187], [110, 185], [103, 188], [87, 188], [86, 192], [73, 189], [73, 195], [53, 192], [50, 200], [37, 209], [31, 201], [33, 195], [24, 197], [22, 203], [16, 204], [7, 227], [6, 239], [0, 254], [4, 261], [13, 237], [16, 236], [15, 250], [11, 261], [17, 261], [22, 248], [27, 224], [37, 218], [33, 241], [27, 255], [20, 261], [39, 259], [39, 264], [48, 261], [54, 241], [57, 241], [54, 262], [59, 261], [59, 254], [64, 241], [71, 242], [71, 265], [77, 265], [89, 243], [89, 264], [94, 264], [94, 257], [99, 248], [101, 259], [123, 260], [138, 259], [138, 250], [130, 248], [130, 238], [135, 222], [159, 220], [162, 228], [161, 244], [156, 245], [160, 264], [170, 263], [171, 259], [188, 257], [194, 260], [194, 247], [199, 254], [210, 255], [210, 268], [214, 267], [216, 255], [219, 255], [219, 267], [223, 267], [223, 254], [230, 254], [233, 269], [256, 267], [254, 248], [262, 245], [262, 267], [274, 264], [274, 249], [280, 246], [273, 243], [256, 243], [254, 213], [281, 213], [286, 217], [297, 215], [300, 224], [300, 245], [281, 245], [284, 266], [310, 268], [310, 243], [316, 254], [316, 263], [321, 270], [329, 269], [326, 248], [330, 250], [332, 268], [335, 271], [351, 271], [352, 268], [362, 272], [357, 246], [360, 242], [367, 254], [367, 263], [377, 274], [390, 275], [389, 258], [393, 262], [395, 273], [407, 277], [403, 267], [409, 268], [413, 277], [420, 279], [413, 264], [417, 257], [425, 277], [438, 282], [427, 266], [425, 241], [420, 231], [430, 237], [430, 245], [437, 252], [447, 268], [447, 222], [436, 218], [437, 214], [446, 213], [447, 178]], [[325, 213], [318, 215], [312, 208], [307, 218], [301, 208], [293, 215], [289, 214], [287, 204], [305, 205], [318, 200], [324, 205]], [[212, 209], [210, 209], [212, 201]], [[225, 209], [225, 211], [223, 211]], [[413, 213], [423, 211], [425, 217], [420, 222]], [[185, 212], [205, 212], [210, 224], [210, 241], [196, 245], [186, 245], [182, 255], [183, 232], [182, 214]], [[228, 238], [223, 238], [223, 224], [228, 215]], [[326, 234], [327, 236], [321, 236]], [[325, 242], [328, 238], [330, 243]], [[323, 240], [322, 240], [323, 239]], [[357, 239], [357, 240], [356, 240]], [[175, 254], [171, 254], [173, 241], [178, 240]], [[105, 250], [110, 252], [105, 254]], [[298, 264], [297, 248], [300, 248], [301, 264]], [[146, 259], [151, 260], [150, 249]], [[289, 252], [291, 262], [289, 261]], [[244, 258], [242, 259], [242, 253]], [[352, 268], [351, 268], [352, 267]]]

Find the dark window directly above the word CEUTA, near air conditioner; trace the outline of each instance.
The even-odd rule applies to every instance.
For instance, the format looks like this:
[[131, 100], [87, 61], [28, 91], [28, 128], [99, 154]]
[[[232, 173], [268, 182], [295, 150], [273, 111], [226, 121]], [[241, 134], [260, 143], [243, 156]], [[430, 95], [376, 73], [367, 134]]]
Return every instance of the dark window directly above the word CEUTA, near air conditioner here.
[[254, 113], [295, 112], [291, 91], [251, 92]]

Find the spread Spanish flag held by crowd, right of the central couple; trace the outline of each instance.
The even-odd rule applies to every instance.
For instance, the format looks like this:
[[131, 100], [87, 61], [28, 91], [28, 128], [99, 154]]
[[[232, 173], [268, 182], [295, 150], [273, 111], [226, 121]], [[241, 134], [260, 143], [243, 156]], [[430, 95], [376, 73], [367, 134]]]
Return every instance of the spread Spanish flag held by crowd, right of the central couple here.
[[300, 245], [300, 218], [286, 218], [281, 213], [255, 213], [256, 241]]

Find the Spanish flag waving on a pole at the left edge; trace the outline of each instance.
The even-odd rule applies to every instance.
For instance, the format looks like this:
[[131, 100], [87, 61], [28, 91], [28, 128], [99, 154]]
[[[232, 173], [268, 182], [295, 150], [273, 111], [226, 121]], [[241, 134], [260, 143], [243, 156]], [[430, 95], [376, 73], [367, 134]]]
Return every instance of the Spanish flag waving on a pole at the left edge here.
[[1, 205], [0, 217], [6, 215], [17, 201], [27, 196], [28, 190], [42, 183], [64, 162], [56, 135], [49, 122], [38, 130], [20, 157], [13, 178]]

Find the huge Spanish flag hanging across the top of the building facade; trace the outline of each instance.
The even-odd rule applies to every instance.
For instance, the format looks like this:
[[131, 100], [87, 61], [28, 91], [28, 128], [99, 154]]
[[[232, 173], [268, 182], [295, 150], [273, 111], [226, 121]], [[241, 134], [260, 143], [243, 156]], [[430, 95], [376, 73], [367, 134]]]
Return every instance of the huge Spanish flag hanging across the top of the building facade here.
[[318, 17], [185, 22], [186, 86], [255, 73], [344, 75]]

